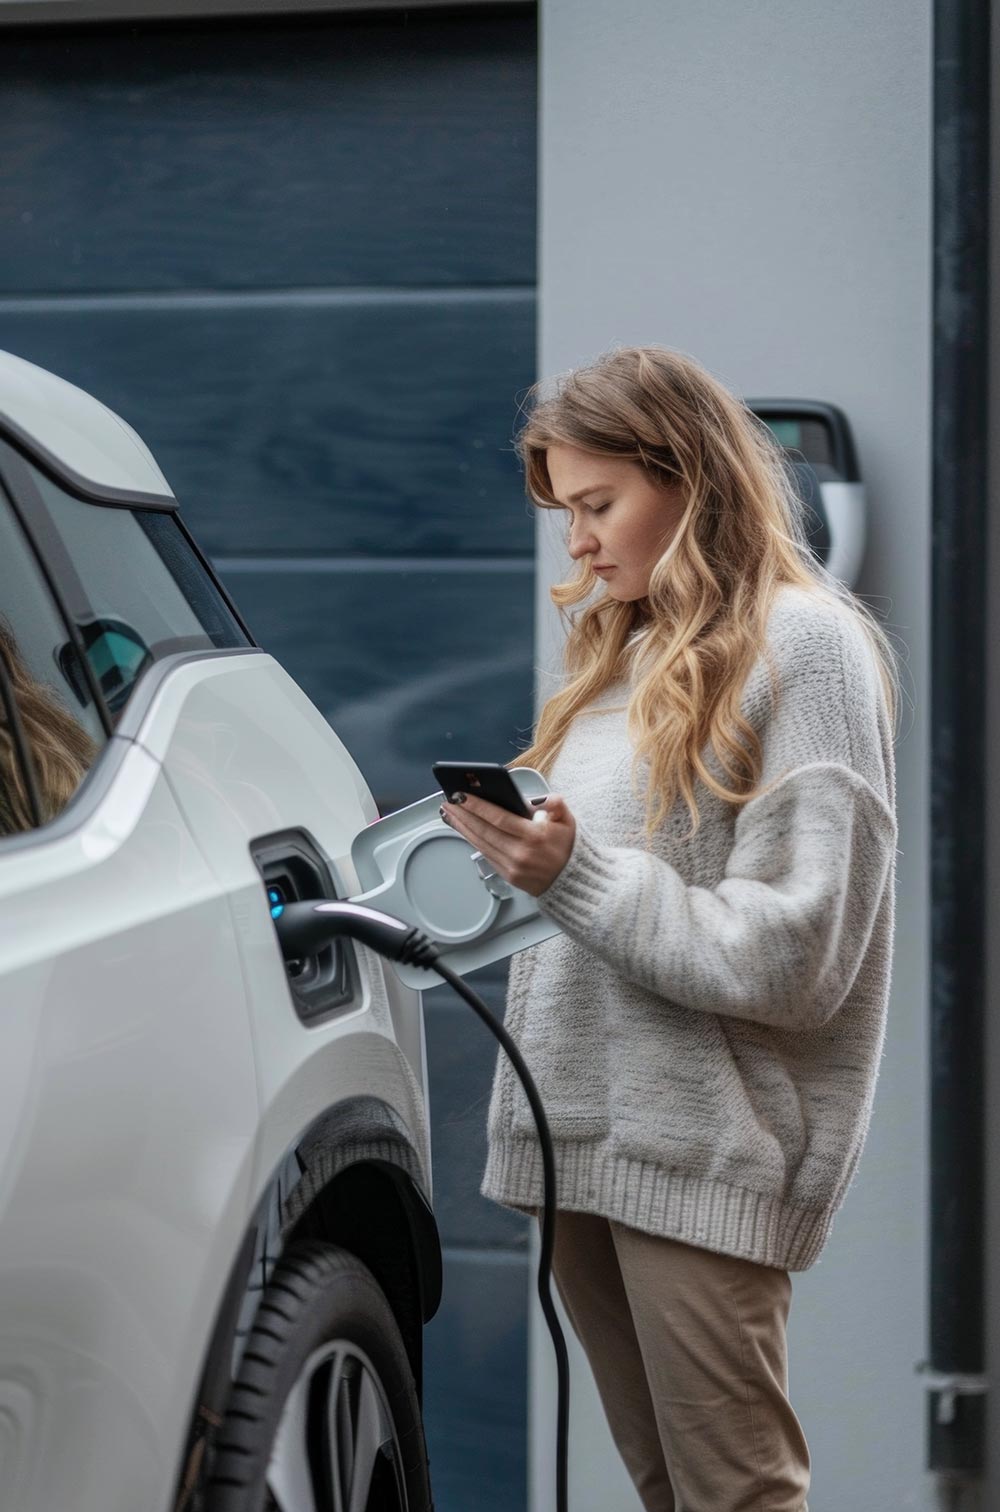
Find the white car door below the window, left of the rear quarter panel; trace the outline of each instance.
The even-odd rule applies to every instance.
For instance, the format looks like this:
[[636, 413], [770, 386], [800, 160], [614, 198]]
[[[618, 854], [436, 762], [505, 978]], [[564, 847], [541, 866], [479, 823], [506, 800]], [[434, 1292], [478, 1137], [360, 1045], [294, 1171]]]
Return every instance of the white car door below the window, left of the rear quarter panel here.
[[0, 907], [0, 1503], [159, 1512], [251, 1199], [228, 907], [138, 747]]

